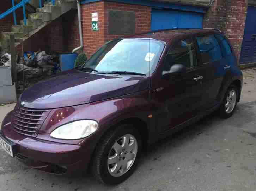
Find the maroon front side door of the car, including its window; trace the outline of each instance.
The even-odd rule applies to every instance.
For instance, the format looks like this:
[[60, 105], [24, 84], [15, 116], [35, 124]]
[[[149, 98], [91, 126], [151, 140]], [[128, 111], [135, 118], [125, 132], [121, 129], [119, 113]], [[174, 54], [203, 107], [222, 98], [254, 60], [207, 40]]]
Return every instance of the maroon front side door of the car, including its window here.
[[192, 39], [178, 40], [173, 44], [166, 56], [163, 73], [170, 71], [173, 64], [185, 65], [187, 73], [152, 81], [152, 99], [158, 105], [158, 132], [172, 129], [194, 117], [201, 108], [201, 69], [197, 65]]

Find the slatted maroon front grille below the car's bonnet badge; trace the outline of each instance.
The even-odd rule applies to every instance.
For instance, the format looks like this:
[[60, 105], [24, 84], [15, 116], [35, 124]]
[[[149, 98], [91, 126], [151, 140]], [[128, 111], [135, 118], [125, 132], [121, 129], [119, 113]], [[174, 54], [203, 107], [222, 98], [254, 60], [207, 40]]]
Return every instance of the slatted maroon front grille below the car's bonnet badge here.
[[13, 130], [20, 134], [36, 137], [49, 113], [50, 110], [16, 106], [12, 120]]

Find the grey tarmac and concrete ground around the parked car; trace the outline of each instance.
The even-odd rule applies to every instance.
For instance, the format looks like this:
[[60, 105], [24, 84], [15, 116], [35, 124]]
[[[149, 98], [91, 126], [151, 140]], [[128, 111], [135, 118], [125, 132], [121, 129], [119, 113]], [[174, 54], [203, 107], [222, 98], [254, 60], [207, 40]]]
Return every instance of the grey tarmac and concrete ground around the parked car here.
[[[90, 175], [46, 174], [0, 150], [0, 191], [256, 191], [256, 69], [243, 73], [242, 101], [233, 117], [212, 114], [151, 146], [120, 185]], [[13, 107], [0, 107], [0, 121]]]

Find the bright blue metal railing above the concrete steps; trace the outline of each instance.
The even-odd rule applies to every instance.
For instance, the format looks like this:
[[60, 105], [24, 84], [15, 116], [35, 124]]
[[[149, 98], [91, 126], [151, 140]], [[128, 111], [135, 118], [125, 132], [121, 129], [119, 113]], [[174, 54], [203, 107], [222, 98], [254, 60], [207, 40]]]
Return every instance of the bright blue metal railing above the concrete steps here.
[[[17, 25], [17, 19], [16, 19], [16, 13], [15, 11], [22, 7], [23, 9], [23, 18], [24, 18], [24, 25], [27, 25], [27, 18], [26, 18], [26, 3], [29, 3], [31, 0], [22, 0], [19, 2], [17, 5], [14, 5], [14, 0], [12, 0], [12, 8], [8, 9], [6, 12], [0, 14], [0, 19], [5, 18], [7, 15], [13, 13], [13, 18], [14, 18], [14, 25]], [[55, 5], [55, 0], [44, 0], [44, 2], [52, 2], [53, 5]], [[39, 6], [40, 8], [43, 7], [43, 2], [42, 0], [39, 0]]]

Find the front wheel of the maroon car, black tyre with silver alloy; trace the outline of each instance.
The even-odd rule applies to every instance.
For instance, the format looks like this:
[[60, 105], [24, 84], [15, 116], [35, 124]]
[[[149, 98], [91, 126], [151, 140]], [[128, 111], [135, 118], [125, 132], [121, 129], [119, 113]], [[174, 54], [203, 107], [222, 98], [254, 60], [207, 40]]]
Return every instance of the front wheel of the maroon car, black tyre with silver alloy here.
[[100, 139], [93, 158], [92, 174], [105, 184], [123, 182], [134, 172], [141, 147], [138, 130], [132, 125], [117, 127]]

